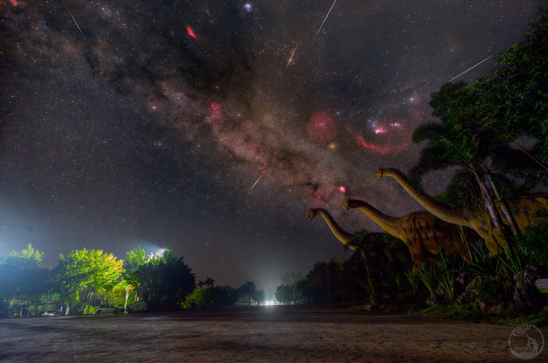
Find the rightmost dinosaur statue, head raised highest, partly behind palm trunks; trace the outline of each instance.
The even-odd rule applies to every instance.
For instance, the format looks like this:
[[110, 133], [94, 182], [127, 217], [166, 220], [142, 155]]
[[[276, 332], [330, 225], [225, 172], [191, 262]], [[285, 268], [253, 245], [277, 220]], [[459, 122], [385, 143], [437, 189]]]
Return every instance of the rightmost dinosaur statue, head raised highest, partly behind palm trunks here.
[[[398, 183], [403, 186], [403, 189], [405, 189], [410, 196], [419, 202], [419, 204], [423, 206], [426, 211], [432, 213], [439, 219], [442, 219], [448, 223], [467, 226], [475, 230], [477, 234], [485, 240], [487, 248], [489, 248], [492, 253], [498, 253], [498, 251], [501, 251], [505, 247], [500, 241], [500, 237], [496, 232], [495, 225], [491, 220], [487, 208], [483, 208], [477, 213], [459, 211], [444, 203], [438, 202], [430, 195], [425, 194], [424, 197], [421, 197], [410, 187], [407, 181], [407, 175], [403, 174], [398, 169], [379, 168], [374, 175], [375, 180], [383, 177], [392, 177], [396, 179]], [[510, 226], [498, 203], [496, 201], [493, 202], [495, 203], [495, 207], [499, 215], [501, 215], [505, 226]], [[540, 208], [545, 207], [547, 204], [547, 193], [531, 194], [521, 197], [517, 205], [517, 210], [513, 211], [518, 228], [522, 229], [524, 226], [529, 225], [532, 222], [533, 214]]]

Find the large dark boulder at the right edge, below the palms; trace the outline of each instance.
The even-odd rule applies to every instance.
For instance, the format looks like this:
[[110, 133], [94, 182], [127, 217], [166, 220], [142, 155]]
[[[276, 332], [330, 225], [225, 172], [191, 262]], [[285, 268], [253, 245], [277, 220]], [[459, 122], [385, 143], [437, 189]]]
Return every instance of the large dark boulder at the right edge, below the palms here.
[[546, 305], [546, 297], [535, 285], [536, 279], [546, 277], [545, 271], [537, 266], [527, 265], [518, 275], [514, 275], [515, 290], [513, 299], [516, 308], [524, 314], [538, 311]]

